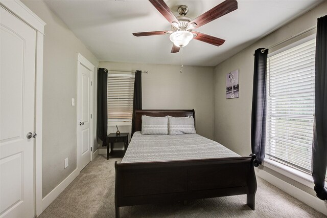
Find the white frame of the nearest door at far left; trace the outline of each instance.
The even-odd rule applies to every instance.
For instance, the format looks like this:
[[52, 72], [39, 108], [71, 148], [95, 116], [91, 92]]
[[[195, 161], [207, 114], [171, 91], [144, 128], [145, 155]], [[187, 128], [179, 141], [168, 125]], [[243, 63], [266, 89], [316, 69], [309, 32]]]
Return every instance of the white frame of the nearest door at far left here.
[[42, 86], [43, 36], [46, 23], [18, 0], [2, 1], [0, 6], [18, 17], [36, 31], [35, 57], [35, 132], [34, 139], [34, 216], [42, 212]]

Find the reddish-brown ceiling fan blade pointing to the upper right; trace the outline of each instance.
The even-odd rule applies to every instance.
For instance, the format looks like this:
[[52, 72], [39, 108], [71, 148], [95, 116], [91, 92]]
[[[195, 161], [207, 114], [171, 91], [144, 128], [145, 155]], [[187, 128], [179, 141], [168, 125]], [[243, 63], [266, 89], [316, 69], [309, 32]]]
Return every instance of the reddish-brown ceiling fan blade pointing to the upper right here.
[[228, 14], [229, 12], [235, 11], [236, 9], [237, 9], [237, 1], [236, 0], [226, 0], [222, 3], [220, 3], [219, 5], [217, 5], [216, 7], [201, 14], [194, 20], [192, 20], [190, 22], [189, 26], [191, 24], [195, 23], [197, 25], [196, 28], [201, 27], [201, 26], [217, 19], [218, 17]]

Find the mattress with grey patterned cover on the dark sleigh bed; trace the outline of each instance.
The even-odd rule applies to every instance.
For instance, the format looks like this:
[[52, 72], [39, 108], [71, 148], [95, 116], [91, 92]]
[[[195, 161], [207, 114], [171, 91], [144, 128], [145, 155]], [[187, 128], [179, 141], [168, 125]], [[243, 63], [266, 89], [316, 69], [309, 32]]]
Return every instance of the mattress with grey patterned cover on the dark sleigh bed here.
[[240, 157], [198, 134], [142, 135], [135, 132], [121, 163]]

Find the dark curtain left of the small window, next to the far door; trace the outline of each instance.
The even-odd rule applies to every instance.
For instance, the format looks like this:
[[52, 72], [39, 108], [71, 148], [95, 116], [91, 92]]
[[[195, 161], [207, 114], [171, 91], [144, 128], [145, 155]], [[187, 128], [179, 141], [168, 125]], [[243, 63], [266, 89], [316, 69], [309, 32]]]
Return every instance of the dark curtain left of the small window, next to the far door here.
[[[107, 78], [108, 70], [98, 70], [98, 91], [97, 91], [97, 140], [102, 141], [102, 146], [107, 146], [108, 113], [107, 113]], [[99, 143], [101, 144], [101, 143]]]

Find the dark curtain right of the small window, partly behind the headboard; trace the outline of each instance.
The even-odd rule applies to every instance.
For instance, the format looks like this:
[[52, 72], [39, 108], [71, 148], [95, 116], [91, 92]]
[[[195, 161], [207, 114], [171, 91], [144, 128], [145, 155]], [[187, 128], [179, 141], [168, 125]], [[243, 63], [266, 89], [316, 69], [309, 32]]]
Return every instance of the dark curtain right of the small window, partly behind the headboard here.
[[142, 71], [136, 71], [134, 81], [132, 136], [134, 133], [135, 110], [142, 109]]

